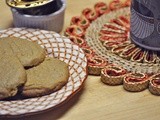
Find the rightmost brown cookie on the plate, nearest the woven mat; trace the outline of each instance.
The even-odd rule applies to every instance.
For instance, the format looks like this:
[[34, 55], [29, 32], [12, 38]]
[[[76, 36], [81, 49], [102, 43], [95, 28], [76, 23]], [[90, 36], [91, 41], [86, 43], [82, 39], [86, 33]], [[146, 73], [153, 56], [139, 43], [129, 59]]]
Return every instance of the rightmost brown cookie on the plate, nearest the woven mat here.
[[27, 82], [22, 95], [38, 97], [61, 89], [68, 81], [68, 65], [55, 58], [46, 58], [36, 67], [26, 70]]

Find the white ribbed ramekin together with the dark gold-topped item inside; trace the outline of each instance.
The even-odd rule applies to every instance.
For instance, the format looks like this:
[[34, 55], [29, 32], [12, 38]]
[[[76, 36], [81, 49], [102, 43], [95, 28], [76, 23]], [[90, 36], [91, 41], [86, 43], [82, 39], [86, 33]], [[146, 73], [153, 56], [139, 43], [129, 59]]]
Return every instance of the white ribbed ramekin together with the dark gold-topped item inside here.
[[11, 7], [14, 27], [61, 32], [65, 0], [6, 0]]

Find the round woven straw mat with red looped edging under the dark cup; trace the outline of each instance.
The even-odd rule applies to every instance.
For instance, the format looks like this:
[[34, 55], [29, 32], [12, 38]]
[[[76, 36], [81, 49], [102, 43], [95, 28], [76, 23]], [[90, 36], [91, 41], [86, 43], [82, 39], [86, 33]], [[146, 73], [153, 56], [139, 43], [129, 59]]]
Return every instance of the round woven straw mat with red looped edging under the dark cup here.
[[[159, 73], [160, 55], [130, 41], [130, 3], [98, 2], [94, 9], [86, 8], [81, 16], [73, 17], [65, 34], [85, 52], [89, 74], [101, 75], [104, 83], [113, 84], [110, 82], [115, 80], [114, 85], [123, 84], [126, 90], [138, 92], [148, 88], [149, 79]], [[120, 75], [116, 67], [108, 70], [110, 65], [127, 70], [126, 75]], [[124, 76], [129, 76], [129, 81]], [[121, 81], [117, 83], [118, 78]]]

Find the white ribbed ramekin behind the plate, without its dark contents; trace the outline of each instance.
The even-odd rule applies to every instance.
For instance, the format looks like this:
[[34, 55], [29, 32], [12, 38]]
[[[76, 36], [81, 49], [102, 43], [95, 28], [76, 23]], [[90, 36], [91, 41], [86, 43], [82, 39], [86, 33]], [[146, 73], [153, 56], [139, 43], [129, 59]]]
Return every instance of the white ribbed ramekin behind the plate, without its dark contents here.
[[16, 8], [11, 8], [13, 24], [15, 27], [27, 27], [60, 32], [64, 24], [66, 0], [61, 0], [61, 4], [59, 10], [48, 15], [28, 15], [23, 14]]

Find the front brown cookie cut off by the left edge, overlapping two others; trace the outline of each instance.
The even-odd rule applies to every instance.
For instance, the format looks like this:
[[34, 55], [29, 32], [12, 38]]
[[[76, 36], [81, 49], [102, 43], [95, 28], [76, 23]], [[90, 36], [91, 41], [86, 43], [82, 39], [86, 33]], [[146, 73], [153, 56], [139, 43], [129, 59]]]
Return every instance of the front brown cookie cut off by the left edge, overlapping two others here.
[[26, 82], [26, 72], [15, 56], [0, 56], [0, 100], [15, 96]]

